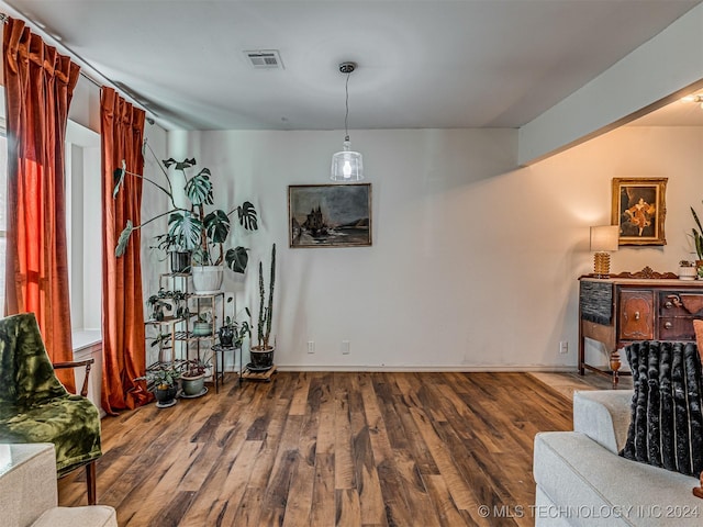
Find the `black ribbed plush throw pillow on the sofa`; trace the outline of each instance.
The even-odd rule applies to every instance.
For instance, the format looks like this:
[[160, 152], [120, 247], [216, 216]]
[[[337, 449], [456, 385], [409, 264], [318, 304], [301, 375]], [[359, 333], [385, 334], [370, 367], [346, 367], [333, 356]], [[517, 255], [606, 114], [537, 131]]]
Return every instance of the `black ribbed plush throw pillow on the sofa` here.
[[621, 456], [698, 476], [703, 470], [701, 357], [692, 343], [625, 348], [635, 394]]

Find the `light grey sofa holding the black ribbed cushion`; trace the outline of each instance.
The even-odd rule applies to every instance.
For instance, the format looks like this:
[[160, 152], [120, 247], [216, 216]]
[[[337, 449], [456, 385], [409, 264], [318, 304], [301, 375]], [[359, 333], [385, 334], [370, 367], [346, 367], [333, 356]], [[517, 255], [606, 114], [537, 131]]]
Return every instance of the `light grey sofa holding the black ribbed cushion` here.
[[622, 458], [633, 392], [573, 395], [573, 431], [535, 436], [535, 526], [701, 526], [695, 478]]

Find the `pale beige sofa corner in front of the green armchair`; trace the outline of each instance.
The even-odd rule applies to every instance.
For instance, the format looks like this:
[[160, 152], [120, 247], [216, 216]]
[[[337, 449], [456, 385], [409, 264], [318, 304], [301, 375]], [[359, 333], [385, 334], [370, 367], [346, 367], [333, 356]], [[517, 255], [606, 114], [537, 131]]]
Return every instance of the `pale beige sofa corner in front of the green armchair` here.
[[52, 444], [0, 445], [0, 525], [118, 527], [112, 507], [58, 507]]

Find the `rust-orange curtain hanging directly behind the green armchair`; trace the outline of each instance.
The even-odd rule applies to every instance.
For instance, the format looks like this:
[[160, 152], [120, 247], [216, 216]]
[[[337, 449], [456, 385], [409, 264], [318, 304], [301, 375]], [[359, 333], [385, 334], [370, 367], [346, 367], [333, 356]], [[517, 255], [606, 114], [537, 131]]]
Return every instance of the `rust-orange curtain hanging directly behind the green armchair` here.
[[[34, 312], [53, 362], [72, 360], [64, 142], [80, 68], [21, 20], [3, 35], [8, 133], [5, 315]], [[75, 391], [72, 371], [60, 381]]]

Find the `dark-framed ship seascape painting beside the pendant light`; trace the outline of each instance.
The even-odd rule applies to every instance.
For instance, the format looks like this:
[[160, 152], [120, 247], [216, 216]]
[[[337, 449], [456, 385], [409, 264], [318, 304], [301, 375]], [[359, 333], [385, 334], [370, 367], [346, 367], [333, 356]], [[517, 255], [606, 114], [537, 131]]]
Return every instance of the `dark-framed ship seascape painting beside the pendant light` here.
[[288, 187], [291, 247], [371, 245], [371, 183]]

